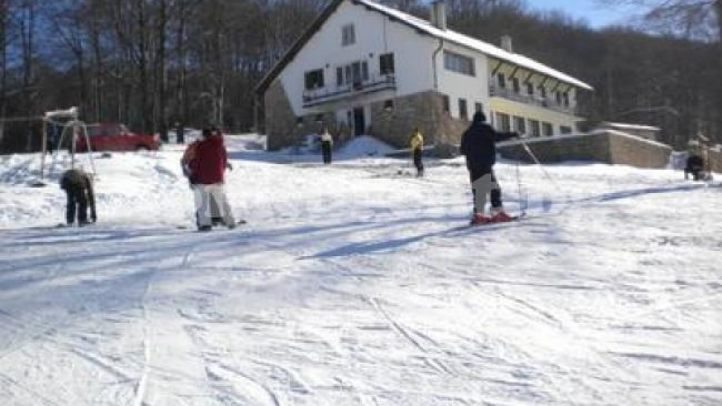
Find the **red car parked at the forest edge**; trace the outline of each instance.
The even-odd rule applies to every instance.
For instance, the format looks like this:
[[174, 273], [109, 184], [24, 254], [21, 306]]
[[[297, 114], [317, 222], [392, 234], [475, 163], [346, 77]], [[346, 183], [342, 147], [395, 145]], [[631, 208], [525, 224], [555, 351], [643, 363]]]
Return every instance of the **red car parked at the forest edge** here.
[[[141, 151], [161, 147], [158, 135], [133, 134], [120, 124], [88, 125], [88, 137], [93, 151]], [[78, 137], [76, 151], [88, 151], [85, 137]]]

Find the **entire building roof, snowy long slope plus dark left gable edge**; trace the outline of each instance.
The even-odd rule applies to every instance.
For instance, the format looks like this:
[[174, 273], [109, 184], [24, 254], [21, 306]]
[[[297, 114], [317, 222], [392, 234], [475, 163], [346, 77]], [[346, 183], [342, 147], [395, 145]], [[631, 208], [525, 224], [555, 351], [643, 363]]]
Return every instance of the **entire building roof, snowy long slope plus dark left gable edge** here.
[[[263, 79], [261, 79], [261, 81], [255, 88], [256, 94], [262, 95], [264, 93], [265, 89], [268, 88], [273, 82], [273, 79], [281, 73], [282, 69], [285, 68], [285, 66], [289, 62], [291, 62], [291, 60], [293, 60], [293, 58], [299, 51], [301, 51], [303, 45], [305, 45], [305, 43], [310, 40], [310, 37], [319, 31], [321, 25], [323, 25], [323, 23], [326, 22], [329, 16], [336, 12], [338, 6], [345, 1], [347, 0], [334, 0], [329, 3], [329, 5], [321, 12], [319, 17], [310, 24], [309, 28], [305, 32], [301, 34], [301, 37], [292, 45], [291, 49], [287, 51], [283, 55], [282, 59], [279, 60], [271, 70], [269, 70], [269, 72], [265, 75]], [[476, 38], [469, 37], [460, 32], [455, 32], [453, 30], [441, 30], [427, 20], [414, 17], [411, 14], [403, 13], [402, 11], [395, 8], [385, 5], [379, 5], [378, 3], [370, 0], [350, 1], [354, 2], [356, 5], [364, 5], [368, 10], [373, 10], [378, 13], [384, 14], [389, 18], [393, 18], [396, 21], [405, 23], [413, 29], [418, 30], [419, 32], [424, 32], [435, 38], [440, 38], [444, 41], [456, 43], [468, 49], [484, 53], [485, 55], [495, 58], [497, 60], [503, 60], [508, 63], [518, 65], [524, 69], [529, 69], [542, 75], [556, 78], [562, 82], [566, 82], [569, 85], [576, 86], [578, 88], [594, 90], [594, 88], [589, 86], [587, 83], [579, 80], [578, 78], [572, 78], [566, 73], [562, 73], [557, 69], [552, 69], [551, 67], [544, 65], [542, 62], [532, 60], [531, 58], [527, 58], [518, 53], [504, 51], [502, 48], [499, 48], [488, 42], [479, 41]]]

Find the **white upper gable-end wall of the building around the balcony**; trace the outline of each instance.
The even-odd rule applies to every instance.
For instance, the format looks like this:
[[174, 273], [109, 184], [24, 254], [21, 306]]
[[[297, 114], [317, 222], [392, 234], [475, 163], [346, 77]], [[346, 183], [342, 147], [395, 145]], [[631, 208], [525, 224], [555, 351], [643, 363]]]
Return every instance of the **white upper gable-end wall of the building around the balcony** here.
[[[353, 23], [356, 43], [342, 46], [341, 31]], [[290, 97], [295, 115], [352, 106], [368, 106], [390, 97], [403, 97], [433, 88], [431, 55], [435, 40], [420, 35], [403, 23], [392, 22], [383, 14], [368, 11], [362, 5], [344, 2], [316, 32], [303, 49], [281, 73], [283, 88]], [[326, 88], [336, 88], [336, 68], [356, 60], [368, 62], [370, 76], [379, 74], [379, 56], [393, 52], [396, 91], [367, 94], [359, 99], [344, 99], [332, 106], [303, 107], [304, 74], [313, 69], [324, 70]], [[369, 120], [367, 115], [366, 120]], [[367, 123], [368, 124], [368, 123]]]

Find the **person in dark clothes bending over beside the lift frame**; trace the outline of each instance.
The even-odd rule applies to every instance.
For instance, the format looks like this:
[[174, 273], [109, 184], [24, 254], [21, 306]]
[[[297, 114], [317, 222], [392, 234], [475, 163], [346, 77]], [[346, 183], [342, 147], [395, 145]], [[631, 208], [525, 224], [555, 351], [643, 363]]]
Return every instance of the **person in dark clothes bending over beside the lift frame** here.
[[60, 189], [65, 190], [68, 202], [65, 210], [65, 221], [68, 226], [75, 223], [78, 215], [78, 226], [88, 225], [88, 207], [90, 221], [97, 221], [96, 198], [93, 193], [93, 182], [88, 173], [80, 169], [65, 171], [60, 178]]

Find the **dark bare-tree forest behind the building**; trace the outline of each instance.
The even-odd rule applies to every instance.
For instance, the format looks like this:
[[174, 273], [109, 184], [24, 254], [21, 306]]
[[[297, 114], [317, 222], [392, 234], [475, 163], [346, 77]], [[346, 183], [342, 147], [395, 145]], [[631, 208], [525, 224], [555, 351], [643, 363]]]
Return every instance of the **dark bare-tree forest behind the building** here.
[[[252, 131], [255, 85], [328, 1], [0, 0], [0, 117], [79, 106], [88, 123], [163, 138], [176, 123]], [[606, 3], [634, 1], [650, 3]], [[421, 0], [383, 3], [428, 15]], [[656, 3], [640, 22], [603, 30], [523, 0], [447, 9], [450, 28], [495, 44], [509, 34], [514, 51], [591, 84], [581, 107], [591, 120], [659, 125], [678, 149], [700, 133], [722, 143], [722, 5]], [[17, 151], [38, 126], [0, 127], [0, 150]]]

